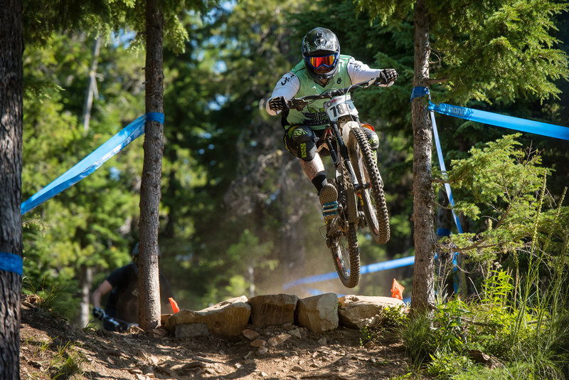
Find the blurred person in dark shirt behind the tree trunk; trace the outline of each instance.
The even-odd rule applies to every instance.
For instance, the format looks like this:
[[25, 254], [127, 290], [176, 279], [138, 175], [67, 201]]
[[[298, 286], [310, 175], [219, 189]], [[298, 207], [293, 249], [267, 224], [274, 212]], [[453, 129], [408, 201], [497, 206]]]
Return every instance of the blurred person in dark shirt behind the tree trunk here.
[[[160, 248], [158, 255], [160, 257]], [[114, 270], [92, 293], [92, 315], [95, 318], [102, 320], [106, 312], [109, 317], [117, 320], [129, 324], [138, 323], [138, 243], [132, 249], [131, 256], [132, 263]], [[170, 307], [169, 297], [174, 297], [174, 295], [170, 283], [162, 274], [159, 275], [159, 283], [161, 310], [166, 310], [166, 307]], [[103, 311], [101, 298], [107, 293], [110, 294], [105, 311]], [[109, 331], [115, 331], [115, 326], [106, 320], [103, 320], [103, 327]]]

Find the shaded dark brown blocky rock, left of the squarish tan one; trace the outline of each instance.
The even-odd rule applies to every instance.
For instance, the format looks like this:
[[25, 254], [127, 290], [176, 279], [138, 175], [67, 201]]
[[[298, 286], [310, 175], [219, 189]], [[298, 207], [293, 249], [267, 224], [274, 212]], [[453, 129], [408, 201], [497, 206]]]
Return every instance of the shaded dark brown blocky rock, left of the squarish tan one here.
[[251, 322], [255, 326], [270, 326], [294, 322], [297, 307], [296, 295], [257, 295], [249, 300]]

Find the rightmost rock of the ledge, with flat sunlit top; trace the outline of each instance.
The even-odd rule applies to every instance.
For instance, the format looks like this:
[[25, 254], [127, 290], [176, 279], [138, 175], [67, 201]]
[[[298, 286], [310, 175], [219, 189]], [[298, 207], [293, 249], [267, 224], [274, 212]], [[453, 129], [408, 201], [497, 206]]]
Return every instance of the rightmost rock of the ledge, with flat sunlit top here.
[[[339, 298], [339, 322], [352, 329], [377, 327], [383, 321], [385, 307], [405, 305], [393, 297], [373, 297], [365, 295], [346, 295]], [[401, 309], [403, 310], [403, 308]]]

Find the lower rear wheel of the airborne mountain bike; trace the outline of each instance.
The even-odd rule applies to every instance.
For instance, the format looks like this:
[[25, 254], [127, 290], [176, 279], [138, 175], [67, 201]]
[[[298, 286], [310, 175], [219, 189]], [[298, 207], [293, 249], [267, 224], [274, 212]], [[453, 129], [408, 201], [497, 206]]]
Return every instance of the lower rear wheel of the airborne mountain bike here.
[[360, 250], [356, 223], [349, 223], [346, 209], [346, 190], [340, 184], [338, 189], [339, 216], [336, 231], [326, 238], [326, 245], [332, 253], [334, 267], [341, 282], [346, 287], [355, 287], [360, 280]]

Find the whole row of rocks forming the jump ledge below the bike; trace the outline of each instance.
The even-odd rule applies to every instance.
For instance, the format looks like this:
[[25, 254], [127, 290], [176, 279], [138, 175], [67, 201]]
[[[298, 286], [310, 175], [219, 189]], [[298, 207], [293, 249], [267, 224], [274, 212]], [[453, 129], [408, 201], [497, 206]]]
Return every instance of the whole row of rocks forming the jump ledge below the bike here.
[[[233, 298], [200, 311], [181, 310], [162, 315], [161, 319], [164, 328], [176, 337], [243, 334], [253, 342], [259, 334], [247, 328], [249, 322], [256, 326], [280, 325], [288, 330], [289, 337], [302, 339], [302, 328], [298, 327], [311, 332], [336, 329], [339, 324], [353, 329], [376, 327], [383, 321], [385, 307], [399, 305], [404, 305], [403, 301], [393, 297], [346, 295], [338, 299], [336, 294], [326, 293], [299, 300], [296, 295], [259, 295], [250, 300], [245, 296]], [[163, 336], [159, 330], [153, 334]]]

